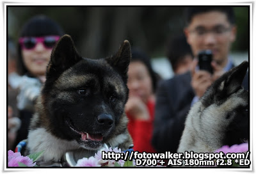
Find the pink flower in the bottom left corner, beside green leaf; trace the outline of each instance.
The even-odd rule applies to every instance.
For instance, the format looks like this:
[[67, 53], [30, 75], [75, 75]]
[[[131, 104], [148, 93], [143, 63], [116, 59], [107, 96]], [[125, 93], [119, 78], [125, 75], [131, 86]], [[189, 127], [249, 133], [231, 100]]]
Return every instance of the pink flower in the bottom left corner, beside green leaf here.
[[20, 152], [14, 153], [12, 150], [8, 150], [8, 166], [19, 167], [19, 162], [22, 162], [28, 167], [33, 167], [36, 164], [36, 162], [33, 163], [33, 159], [22, 156]]

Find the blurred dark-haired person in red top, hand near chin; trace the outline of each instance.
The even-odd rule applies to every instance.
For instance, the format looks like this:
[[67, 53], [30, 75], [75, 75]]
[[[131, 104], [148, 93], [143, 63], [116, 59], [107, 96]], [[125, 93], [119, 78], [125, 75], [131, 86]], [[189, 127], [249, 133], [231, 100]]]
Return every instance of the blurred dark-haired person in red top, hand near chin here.
[[129, 119], [128, 131], [133, 139], [133, 149], [138, 152], [155, 152], [151, 139], [157, 75], [152, 69], [150, 58], [138, 49], [132, 50], [127, 86], [129, 99], [125, 113]]

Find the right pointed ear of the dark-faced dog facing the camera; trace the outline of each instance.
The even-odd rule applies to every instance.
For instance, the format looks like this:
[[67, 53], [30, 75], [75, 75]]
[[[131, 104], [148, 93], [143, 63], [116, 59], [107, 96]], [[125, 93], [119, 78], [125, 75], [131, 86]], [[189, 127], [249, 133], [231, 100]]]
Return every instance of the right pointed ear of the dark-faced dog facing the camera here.
[[131, 45], [129, 41], [125, 40], [115, 56], [106, 58], [106, 61], [117, 70], [126, 83], [128, 67], [131, 61]]

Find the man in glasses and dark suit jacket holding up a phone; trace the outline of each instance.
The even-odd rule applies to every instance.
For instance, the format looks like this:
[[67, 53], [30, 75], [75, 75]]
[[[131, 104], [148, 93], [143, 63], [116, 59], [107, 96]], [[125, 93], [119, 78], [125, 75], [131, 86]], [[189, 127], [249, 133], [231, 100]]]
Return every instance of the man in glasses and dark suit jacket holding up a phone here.
[[[157, 152], [177, 152], [191, 104], [204, 95], [213, 81], [234, 67], [229, 57], [230, 47], [236, 40], [232, 7], [188, 7], [184, 33], [196, 58], [200, 51], [212, 52], [213, 72], [211, 74], [207, 70], [199, 70], [198, 60], [195, 59], [190, 72], [176, 75], [159, 84], [152, 138], [152, 145]], [[243, 84], [248, 90], [248, 74], [244, 77]]]

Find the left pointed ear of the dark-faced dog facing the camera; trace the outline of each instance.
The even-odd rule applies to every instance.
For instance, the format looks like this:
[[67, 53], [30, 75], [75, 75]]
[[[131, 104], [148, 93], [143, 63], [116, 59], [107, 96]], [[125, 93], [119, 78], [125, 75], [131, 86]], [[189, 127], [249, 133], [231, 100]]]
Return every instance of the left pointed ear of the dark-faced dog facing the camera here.
[[75, 44], [70, 35], [64, 35], [58, 40], [52, 50], [51, 59], [47, 66], [46, 75], [52, 77], [72, 67], [82, 58], [76, 51]]

